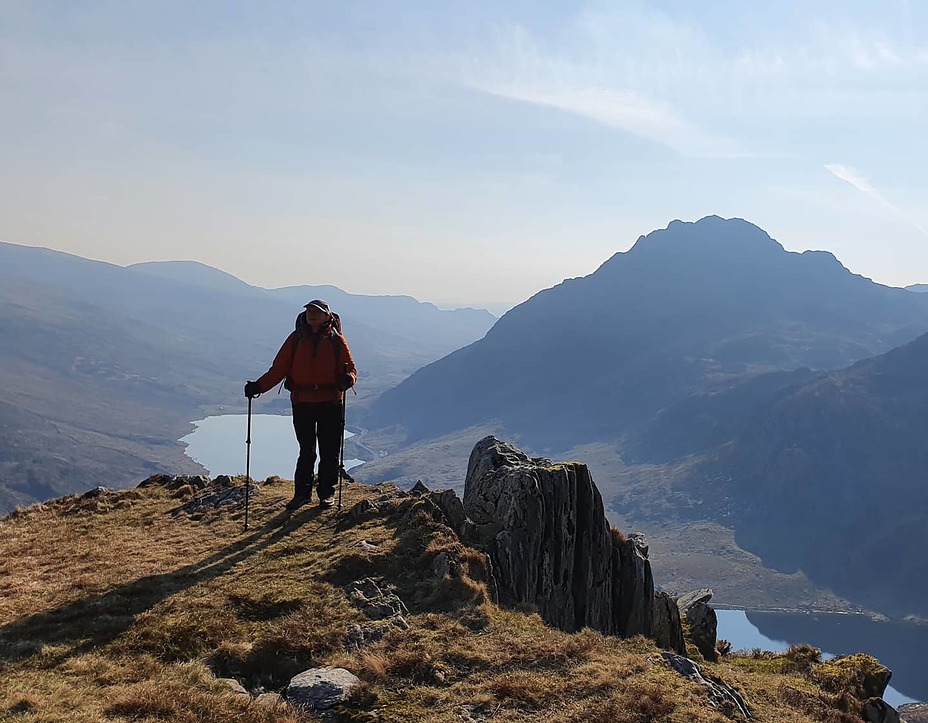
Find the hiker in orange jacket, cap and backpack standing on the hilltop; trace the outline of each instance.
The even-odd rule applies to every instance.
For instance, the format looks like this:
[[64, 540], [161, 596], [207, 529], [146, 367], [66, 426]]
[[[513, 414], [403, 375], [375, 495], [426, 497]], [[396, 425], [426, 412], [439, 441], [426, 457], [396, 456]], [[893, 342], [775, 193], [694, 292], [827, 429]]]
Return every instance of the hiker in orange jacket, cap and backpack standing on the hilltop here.
[[249, 399], [273, 389], [281, 380], [290, 392], [293, 429], [300, 443], [300, 456], [293, 474], [293, 499], [288, 510], [310, 501], [316, 440], [319, 441], [319, 506], [332, 506], [338, 481], [339, 444], [344, 434], [345, 392], [354, 386], [358, 372], [348, 342], [341, 334], [338, 314], [322, 299], [314, 299], [297, 317], [271, 368], [255, 382], [245, 383]]

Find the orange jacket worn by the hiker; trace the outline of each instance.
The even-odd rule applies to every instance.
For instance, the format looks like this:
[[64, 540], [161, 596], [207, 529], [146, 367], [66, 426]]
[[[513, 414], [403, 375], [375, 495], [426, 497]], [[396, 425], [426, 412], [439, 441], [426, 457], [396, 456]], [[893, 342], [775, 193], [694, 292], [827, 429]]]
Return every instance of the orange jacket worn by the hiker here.
[[302, 335], [296, 331], [290, 332], [274, 357], [271, 368], [258, 379], [258, 386], [262, 392], [266, 392], [288, 378], [290, 401], [293, 404], [340, 402], [342, 392], [335, 387], [340, 378], [348, 374], [352, 385], [358, 380], [358, 371], [351, 358], [348, 342], [332, 329], [323, 329], [319, 334], [310, 334], [308, 331], [307, 328]]

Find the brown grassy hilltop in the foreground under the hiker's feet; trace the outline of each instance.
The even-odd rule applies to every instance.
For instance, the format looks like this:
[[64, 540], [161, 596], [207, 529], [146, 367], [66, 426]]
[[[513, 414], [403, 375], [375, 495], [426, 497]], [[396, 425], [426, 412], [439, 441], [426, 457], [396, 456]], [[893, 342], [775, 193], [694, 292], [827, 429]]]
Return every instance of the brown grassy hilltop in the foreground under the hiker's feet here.
[[[644, 639], [568, 635], [498, 608], [481, 582], [483, 556], [417, 498], [389, 485], [345, 491], [346, 508], [369, 499], [381, 513], [357, 521], [304, 508], [288, 519], [289, 484], [272, 479], [253, 498], [247, 533], [241, 510], [172, 516], [189, 487], [63, 498], [0, 520], [0, 718], [314, 720], [232, 695], [216, 676], [279, 690], [331, 664], [365, 684], [341, 720], [728, 720]], [[428, 571], [442, 551], [460, 574], [436, 581]], [[345, 586], [368, 575], [395, 585], [410, 627], [346, 653], [347, 627], [367, 621]], [[758, 720], [858, 720], [795, 659], [706, 668]]]

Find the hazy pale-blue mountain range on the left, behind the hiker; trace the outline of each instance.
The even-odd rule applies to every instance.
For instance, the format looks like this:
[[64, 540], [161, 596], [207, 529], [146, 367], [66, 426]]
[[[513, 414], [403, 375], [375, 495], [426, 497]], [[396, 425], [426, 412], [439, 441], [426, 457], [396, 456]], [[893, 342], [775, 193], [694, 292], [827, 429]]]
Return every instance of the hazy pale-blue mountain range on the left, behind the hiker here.
[[[192, 262], [124, 268], [0, 244], [0, 511], [99, 480], [195, 471], [177, 442], [190, 420], [241, 406], [244, 381], [320, 296], [343, 318], [361, 398], [495, 320], [410, 297], [267, 290]], [[268, 404], [285, 407], [286, 395]]]

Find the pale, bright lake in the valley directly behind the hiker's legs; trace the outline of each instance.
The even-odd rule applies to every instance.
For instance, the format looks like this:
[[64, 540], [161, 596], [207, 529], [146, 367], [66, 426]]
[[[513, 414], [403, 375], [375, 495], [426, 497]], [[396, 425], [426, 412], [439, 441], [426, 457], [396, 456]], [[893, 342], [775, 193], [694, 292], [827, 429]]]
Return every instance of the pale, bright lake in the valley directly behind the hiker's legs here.
[[[223, 414], [198, 419], [193, 424], [196, 428], [180, 440], [187, 444], [185, 453], [190, 459], [206, 467], [213, 477], [245, 474], [247, 414]], [[353, 436], [354, 433], [345, 431], [346, 439]], [[264, 480], [273, 475], [293, 479], [299, 453], [292, 417], [282, 414], [251, 415], [252, 479]], [[345, 469], [363, 463], [361, 459], [346, 459]]]

